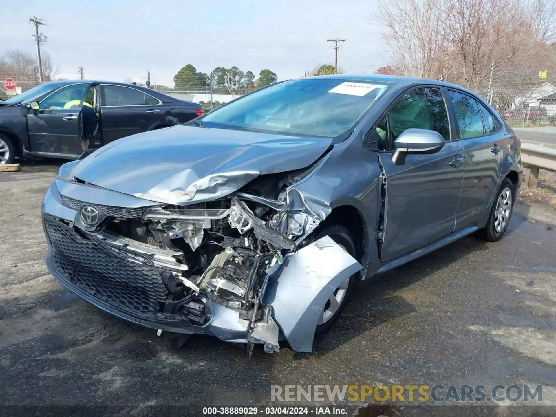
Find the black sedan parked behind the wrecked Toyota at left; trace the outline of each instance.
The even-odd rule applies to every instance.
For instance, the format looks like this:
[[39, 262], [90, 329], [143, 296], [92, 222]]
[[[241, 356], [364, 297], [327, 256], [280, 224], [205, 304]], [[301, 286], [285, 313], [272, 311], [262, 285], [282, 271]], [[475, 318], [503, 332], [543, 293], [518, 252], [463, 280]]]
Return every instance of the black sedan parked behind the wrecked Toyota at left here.
[[201, 105], [149, 88], [54, 81], [0, 101], [0, 164], [15, 157], [76, 159], [125, 136], [185, 123]]

